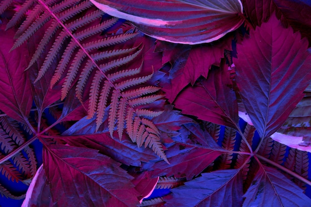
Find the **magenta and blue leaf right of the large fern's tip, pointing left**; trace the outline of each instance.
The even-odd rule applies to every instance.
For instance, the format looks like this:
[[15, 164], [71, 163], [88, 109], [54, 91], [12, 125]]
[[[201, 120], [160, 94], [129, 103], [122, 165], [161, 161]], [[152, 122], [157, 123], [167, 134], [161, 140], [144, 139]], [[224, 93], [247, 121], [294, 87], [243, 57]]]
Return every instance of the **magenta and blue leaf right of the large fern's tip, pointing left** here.
[[173, 138], [175, 143], [165, 151], [170, 164], [160, 160], [143, 165], [144, 170], [152, 171], [152, 177], [173, 175], [190, 180], [225, 152], [199, 125], [187, 124], [179, 132]]

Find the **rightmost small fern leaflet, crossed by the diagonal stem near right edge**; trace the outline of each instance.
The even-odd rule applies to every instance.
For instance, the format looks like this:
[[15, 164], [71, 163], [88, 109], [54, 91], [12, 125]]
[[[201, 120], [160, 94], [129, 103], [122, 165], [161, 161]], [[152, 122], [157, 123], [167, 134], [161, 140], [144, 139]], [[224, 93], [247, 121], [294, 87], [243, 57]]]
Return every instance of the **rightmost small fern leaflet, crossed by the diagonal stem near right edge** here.
[[[296, 149], [295, 172], [304, 178], [308, 178], [308, 169], [309, 169], [308, 152]], [[306, 183], [298, 179], [295, 179], [294, 181], [300, 188], [306, 190], [307, 188]]]

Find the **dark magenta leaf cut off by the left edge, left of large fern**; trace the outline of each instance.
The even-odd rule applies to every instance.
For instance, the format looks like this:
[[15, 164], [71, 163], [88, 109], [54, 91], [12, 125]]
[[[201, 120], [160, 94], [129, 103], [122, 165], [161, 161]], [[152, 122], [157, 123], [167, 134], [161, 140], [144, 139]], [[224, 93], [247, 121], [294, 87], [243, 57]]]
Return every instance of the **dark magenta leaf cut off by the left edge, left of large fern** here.
[[[4, 32], [0, 24], [0, 110], [9, 117], [26, 123], [32, 105], [30, 81], [27, 72], [27, 48], [23, 44], [18, 50], [8, 51], [13, 46], [14, 30]], [[23, 51], [21, 53], [20, 51]]]

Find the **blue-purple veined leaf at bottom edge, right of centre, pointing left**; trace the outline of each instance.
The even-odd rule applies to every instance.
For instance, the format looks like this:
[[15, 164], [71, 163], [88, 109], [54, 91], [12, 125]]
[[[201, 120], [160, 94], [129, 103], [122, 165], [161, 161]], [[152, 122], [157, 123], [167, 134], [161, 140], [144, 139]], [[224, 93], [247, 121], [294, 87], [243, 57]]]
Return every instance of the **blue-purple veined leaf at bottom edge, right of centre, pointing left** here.
[[242, 177], [239, 170], [217, 170], [170, 190], [164, 197], [167, 207], [240, 207]]

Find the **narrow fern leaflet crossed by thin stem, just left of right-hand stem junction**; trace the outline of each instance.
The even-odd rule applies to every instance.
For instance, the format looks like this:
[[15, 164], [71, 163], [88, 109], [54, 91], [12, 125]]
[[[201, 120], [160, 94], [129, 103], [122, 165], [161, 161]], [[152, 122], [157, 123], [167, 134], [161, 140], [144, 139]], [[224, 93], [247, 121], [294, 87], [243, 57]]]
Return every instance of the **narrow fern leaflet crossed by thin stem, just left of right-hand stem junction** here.
[[[227, 150], [233, 150], [235, 143], [236, 131], [230, 127], [225, 128], [224, 140], [222, 147]], [[232, 163], [233, 153], [224, 153], [220, 157], [220, 169], [228, 169]]]

